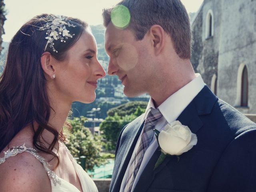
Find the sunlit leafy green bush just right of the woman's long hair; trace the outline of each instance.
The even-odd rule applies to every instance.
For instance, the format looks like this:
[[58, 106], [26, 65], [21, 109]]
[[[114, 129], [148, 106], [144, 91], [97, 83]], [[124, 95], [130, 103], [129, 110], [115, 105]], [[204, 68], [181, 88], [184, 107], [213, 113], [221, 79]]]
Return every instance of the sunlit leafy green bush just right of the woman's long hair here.
[[69, 143], [66, 144], [74, 157], [86, 156], [85, 170], [93, 170], [94, 165], [100, 166], [106, 162], [100, 156], [102, 141], [97, 135], [84, 127], [86, 118], [81, 116], [70, 120], [72, 134], [69, 135]]

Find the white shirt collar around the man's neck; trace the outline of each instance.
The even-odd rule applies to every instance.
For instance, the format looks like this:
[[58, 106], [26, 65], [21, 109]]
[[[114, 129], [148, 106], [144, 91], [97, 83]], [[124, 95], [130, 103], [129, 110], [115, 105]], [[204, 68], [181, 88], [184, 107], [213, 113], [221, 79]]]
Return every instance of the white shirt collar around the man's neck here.
[[[158, 107], [168, 124], [178, 118], [178, 116], [188, 106], [188, 104], [190, 104], [190, 102], [196, 97], [202, 88], [204, 88], [204, 85], [205, 84], [201, 75], [197, 73], [196, 78], [168, 97]], [[148, 102], [145, 114], [142, 118], [142, 122], [146, 119], [146, 115], [150, 108], [155, 108], [153, 99], [151, 97]]]

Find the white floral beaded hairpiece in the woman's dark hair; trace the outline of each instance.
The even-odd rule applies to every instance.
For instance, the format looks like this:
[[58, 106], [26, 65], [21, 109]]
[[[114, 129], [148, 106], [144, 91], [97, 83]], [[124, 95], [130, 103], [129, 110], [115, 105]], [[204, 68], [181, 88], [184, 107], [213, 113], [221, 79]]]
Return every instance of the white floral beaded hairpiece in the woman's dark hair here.
[[48, 44], [50, 44], [50, 48], [52, 48], [54, 52], [58, 53], [58, 51], [54, 48], [54, 40], [60, 40], [60, 42], [65, 43], [68, 37], [72, 38], [75, 35], [71, 35], [69, 30], [66, 29], [66, 26], [76, 27], [76, 25], [70, 24], [65, 16], [54, 17], [49, 15], [46, 17], [46, 21], [46, 24], [38, 29], [46, 30], [46, 39], [48, 39], [48, 41], [44, 50], [46, 50]]

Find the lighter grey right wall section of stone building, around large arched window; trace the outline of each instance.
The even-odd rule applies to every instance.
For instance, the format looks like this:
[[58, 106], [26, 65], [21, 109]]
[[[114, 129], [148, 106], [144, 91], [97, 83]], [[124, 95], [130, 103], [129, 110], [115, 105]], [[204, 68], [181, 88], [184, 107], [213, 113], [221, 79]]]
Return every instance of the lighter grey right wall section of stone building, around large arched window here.
[[[234, 14], [235, 13], [235, 14]], [[256, 1], [222, 1], [218, 96], [242, 113], [256, 113]], [[240, 106], [238, 69], [248, 69], [248, 107]]]

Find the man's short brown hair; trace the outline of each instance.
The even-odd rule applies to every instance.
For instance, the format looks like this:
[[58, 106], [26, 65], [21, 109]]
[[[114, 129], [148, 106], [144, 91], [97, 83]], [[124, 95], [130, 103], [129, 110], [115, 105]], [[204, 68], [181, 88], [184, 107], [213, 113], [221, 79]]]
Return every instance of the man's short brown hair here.
[[[117, 5], [124, 5], [129, 9], [131, 19], [128, 28], [134, 32], [136, 40], [142, 40], [150, 27], [158, 24], [171, 36], [178, 56], [190, 58], [190, 19], [180, 0], [122, 0]], [[103, 10], [105, 27], [111, 21], [112, 9]]]

